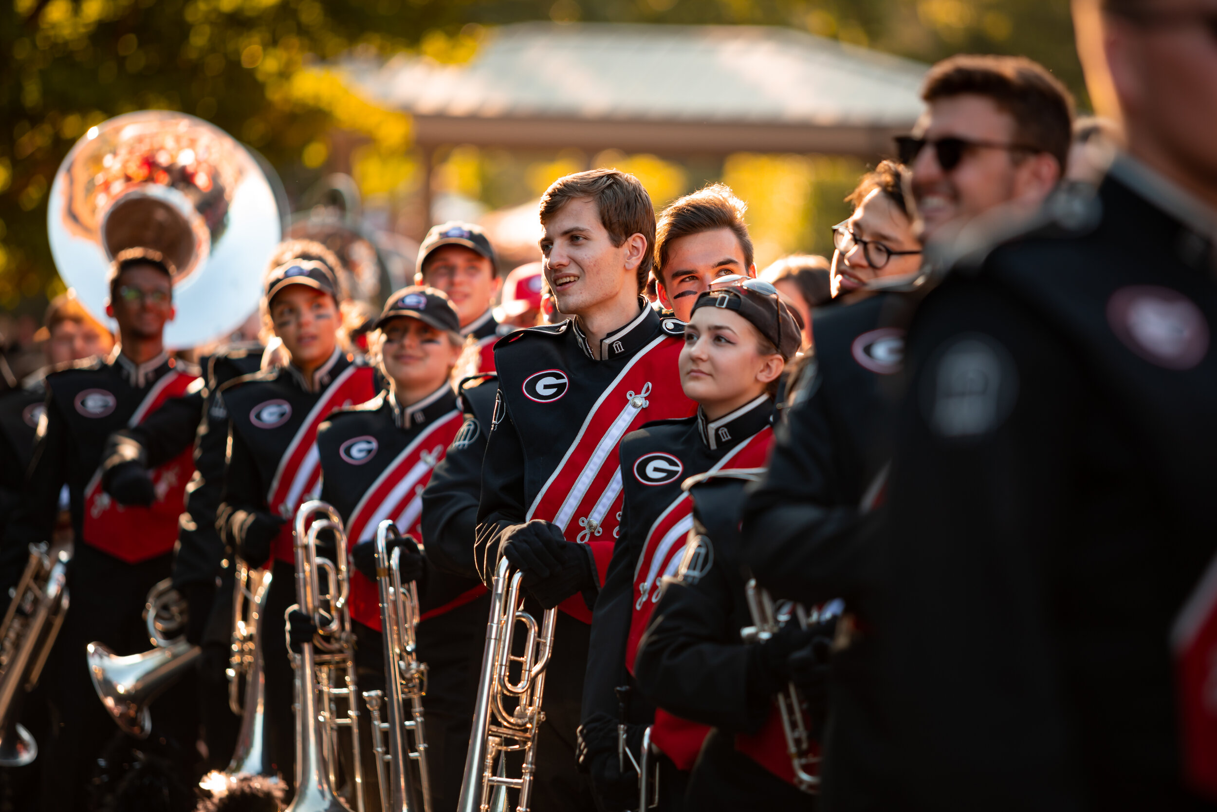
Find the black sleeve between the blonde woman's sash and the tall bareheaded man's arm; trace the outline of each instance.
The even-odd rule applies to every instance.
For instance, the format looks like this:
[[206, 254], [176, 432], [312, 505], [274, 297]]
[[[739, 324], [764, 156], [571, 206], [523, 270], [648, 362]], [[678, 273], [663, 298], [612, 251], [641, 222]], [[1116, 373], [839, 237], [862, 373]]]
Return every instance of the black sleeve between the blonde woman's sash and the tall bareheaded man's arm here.
[[[477, 420], [467, 413], [465, 419]], [[486, 444], [486, 432], [478, 426], [472, 442], [449, 447], [422, 492], [422, 538], [427, 560], [437, 570], [465, 578], [479, 577], [473, 543]]]

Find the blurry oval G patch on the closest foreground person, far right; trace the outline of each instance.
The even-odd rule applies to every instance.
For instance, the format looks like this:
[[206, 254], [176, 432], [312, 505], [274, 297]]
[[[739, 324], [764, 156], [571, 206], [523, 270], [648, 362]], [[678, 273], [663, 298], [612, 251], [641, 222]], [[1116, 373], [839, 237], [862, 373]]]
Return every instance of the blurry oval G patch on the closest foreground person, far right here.
[[1191, 369], [1208, 353], [1205, 314], [1170, 287], [1121, 287], [1107, 299], [1107, 323], [1125, 346], [1157, 366]]

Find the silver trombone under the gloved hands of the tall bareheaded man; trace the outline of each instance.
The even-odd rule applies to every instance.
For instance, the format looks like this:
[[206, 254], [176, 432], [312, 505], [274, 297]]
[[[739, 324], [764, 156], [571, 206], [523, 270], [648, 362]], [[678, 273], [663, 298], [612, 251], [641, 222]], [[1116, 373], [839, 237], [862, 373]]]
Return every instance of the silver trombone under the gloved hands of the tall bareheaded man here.
[[[495, 810], [505, 808], [507, 788], [515, 788], [520, 793], [517, 812], [527, 812], [532, 796], [537, 734], [545, 718], [542, 711], [545, 668], [554, 651], [557, 610], [546, 609], [538, 627], [537, 618], [523, 607], [525, 597], [520, 592], [523, 572], [511, 573], [510, 578], [507, 576], [509, 562], [503, 559], [495, 571], [490, 594], [490, 617], [486, 626], [482, 673], [458, 812], [487, 812], [492, 803]], [[523, 625], [527, 639], [523, 653], [514, 655], [511, 649], [517, 623]], [[520, 666], [518, 682], [511, 681], [512, 663]], [[505, 705], [509, 696], [515, 699], [510, 711]], [[506, 754], [518, 751], [523, 752], [520, 778], [509, 778]]]

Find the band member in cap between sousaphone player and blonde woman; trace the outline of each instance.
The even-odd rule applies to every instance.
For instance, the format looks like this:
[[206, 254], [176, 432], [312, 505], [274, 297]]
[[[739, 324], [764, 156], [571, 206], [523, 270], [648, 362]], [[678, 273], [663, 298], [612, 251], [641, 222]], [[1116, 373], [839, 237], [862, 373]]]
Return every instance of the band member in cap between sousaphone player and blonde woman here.
[[213, 408], [229, 420], [217, 527], [249, 566], [270, 566], [263, 663], [271, 766], [295, 775], [293, 674], [284, 612], [296, 603], [292, 519], [319, 489], [316, 431], [335, 409], [376, 394], [374, 370], [340, 345], [343, 291], [336, 269], [290, 258], [273, 268], [262, 299], [264, 319], [282, 341], [286, 364], [220, 387]]

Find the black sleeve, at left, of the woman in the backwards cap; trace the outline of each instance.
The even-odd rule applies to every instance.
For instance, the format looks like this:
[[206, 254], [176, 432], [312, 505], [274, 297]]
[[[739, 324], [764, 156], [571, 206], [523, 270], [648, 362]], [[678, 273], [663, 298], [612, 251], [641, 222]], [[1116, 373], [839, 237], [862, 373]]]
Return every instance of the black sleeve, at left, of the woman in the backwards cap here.
[[[622, 504], [621, 527], [629, 527], [629, 504]], [[583, 721], [601, 712], [616, 718], [618, 685], [628, 685], [626, 645], [629, 640], [630, 606], [634, 598], [634, 566], [638, 549], [627, 534], [617, 539], [591, 610], [591, 644], [588, 646], [588, 670], [583, 681]]]

